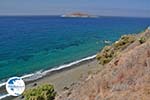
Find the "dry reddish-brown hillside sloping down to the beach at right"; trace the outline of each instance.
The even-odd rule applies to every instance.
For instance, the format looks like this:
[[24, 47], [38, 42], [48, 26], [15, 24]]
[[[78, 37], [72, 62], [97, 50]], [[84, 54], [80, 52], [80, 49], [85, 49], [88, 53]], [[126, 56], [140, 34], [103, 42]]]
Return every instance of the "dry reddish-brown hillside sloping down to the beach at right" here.
[[56, 100], [150, 100], [150, 30], [137, 35], [102, 71]]

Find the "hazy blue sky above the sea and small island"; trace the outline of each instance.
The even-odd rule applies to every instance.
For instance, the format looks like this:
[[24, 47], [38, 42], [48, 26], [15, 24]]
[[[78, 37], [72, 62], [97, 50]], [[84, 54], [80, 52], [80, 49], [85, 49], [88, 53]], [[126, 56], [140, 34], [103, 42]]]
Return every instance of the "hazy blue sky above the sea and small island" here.
[[0, 15], [61, 15], [73, 12], [150, 17], [150, 0], [0, 0]]

